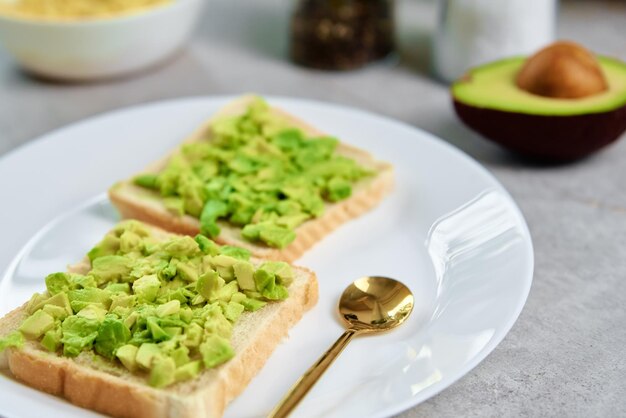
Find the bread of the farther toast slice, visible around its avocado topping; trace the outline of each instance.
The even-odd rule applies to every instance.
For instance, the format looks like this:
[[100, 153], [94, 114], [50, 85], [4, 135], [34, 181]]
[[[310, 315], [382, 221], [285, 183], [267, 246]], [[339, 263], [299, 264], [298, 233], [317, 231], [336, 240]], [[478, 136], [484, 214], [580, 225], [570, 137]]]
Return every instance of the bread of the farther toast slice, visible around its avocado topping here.
[[[244, 96], [222, 108], [204, 126], [197, 130], [185, 142], [194, 142], [211, 138], [211, 123], [223, 116], [236, 116], [244, 113], [254, 96]], [[271, 108], [272, 114], [280, 117], [289, 126], [300, 129], [311, 137], [324, 134], [300, 119], [276, 107]], [[256, 257], [294, 261], [324, 236], [351, 219], [363, 215], [375, 207], [393, 189], [393, 167], [391, 164], [376, 160], [372, 155], [361, 149], [340, 143], [337, 154], [355, 160], [362, 167], [373, 171], [373, 176], [358, 181], [353, 186], [352, 195], [336, 203], [326, 202], [324, 213], [304, 222], [296, 228], [296, 239], [283, 249], [272, 248], [262, 243], [252, 243], [241, 237], [241, 228], [219, 221], [221, 233], [215, 238], [220, 244], [235, 245], [246, 248]], [[165, 165], [169, 156], [147, 167], [143, 173], [158, 173]], [[189, 215], [172, 215], [163, 205], [158, 192], [136, 186], [126, 180], [117, 183], [109, 190], [111, 202], [118, 208], [124, 218], [139, 219], [157, 225], [168, 231], [195, 235], [200, 230], [197, 218]]]

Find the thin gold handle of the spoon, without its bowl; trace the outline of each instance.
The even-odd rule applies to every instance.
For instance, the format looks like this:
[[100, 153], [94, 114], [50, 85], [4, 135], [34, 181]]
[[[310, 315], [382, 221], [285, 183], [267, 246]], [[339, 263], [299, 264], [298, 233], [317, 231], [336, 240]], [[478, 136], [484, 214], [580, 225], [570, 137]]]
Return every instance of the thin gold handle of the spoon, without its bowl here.
[[309, 390], [317, 383], [319, 378], [324, 374], [326, 369], [330, 367], [335, 359], [341, 354], [346, 345], [350, 342], [352, 337], [357, 333], [355, 329], [347, 329], [341, 337], [328, 349], [310, 368], [307, 370], [300, 379], [289, 389], [289, 392], [268, 415], [268, 418], [285, 418], [294, 410], [300, 403], [302, 398], [309, 393]]

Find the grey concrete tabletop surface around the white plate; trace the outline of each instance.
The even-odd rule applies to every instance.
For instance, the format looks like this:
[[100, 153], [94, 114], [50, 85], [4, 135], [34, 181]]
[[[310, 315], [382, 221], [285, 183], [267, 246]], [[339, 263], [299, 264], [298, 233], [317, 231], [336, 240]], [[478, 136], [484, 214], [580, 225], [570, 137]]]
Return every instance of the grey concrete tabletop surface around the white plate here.
[[[54, 84], [0, 53], [0, 154], [111, 109], [247, 91], [356, 106], [430, 131], [511, 192], [530, 226], [536, 270], [528, 303], [496, 350], [399, 417], [626, 416], [626, 141], [575, 164], [520, 160], [461, 125], [446, 86], [429, 77], [432, 1], [398, 2], [396, 60], [345, 74], [285, 59], [287, 3], [211, 0], [193, 42], [134, 78]], [[626, 59], [625, 30], [624, 1], [562, 3], [561, 38]]]

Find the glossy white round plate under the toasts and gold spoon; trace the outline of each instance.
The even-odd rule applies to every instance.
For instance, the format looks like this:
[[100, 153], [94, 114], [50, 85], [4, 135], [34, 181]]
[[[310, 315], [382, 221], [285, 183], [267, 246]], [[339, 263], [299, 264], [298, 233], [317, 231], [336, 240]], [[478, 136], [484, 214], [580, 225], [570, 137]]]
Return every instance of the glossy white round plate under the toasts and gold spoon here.
[[[42, 290], [47, 273], [79, 260], [115, 223], [102, 194], [108, 186], [164, 155], [228, 99], [114, 112], [1, 159], [0, 266], [9, 267], [0, 282], [0, 314]], [[271, 102], [392, 162], [397, 186], [377, 209], [298, 261], [317, 272], [320, 301], [226, 416], [261, 417], [271, 409], [340, 335], [338, 297], [366, 274], [406, 283], [416, 296], [413, 315], [395, 331], [353, 341], [294, 416], [386, 417], [417, 405], [475, 367], [515, 322], [533, 272], [524, 219], [485, 169], [432, 135], [345, 107]], [[4, 375], [0, 415], [96, 416]]]

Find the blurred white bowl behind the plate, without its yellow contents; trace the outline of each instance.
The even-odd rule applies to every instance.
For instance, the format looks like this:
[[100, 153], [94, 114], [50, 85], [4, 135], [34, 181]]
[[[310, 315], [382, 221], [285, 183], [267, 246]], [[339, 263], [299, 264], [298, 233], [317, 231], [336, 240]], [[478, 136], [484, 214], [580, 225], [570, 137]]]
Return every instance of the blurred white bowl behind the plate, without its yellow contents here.
[[205, 0], [91, 20], [0, 16], [0, 43], [27, 71], [65, 80], [132, 73], [172, 55], [188, 39]]

